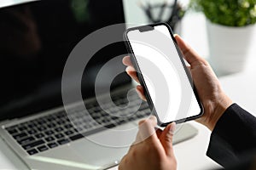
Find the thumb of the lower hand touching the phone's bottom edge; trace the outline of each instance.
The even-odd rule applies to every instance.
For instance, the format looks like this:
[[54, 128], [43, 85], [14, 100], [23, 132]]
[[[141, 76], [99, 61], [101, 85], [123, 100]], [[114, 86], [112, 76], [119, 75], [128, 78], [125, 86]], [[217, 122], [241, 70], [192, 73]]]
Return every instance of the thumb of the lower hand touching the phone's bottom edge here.
[[173, 139], [175, 127], [176, 127], [176, 123], [172, 122], [164, 129], [160, 137], [160, 142], [163, 145], [164, 149], [166, 150], [167, 156], [174, 156], [173, 149], [172, 149], [172, 139]]

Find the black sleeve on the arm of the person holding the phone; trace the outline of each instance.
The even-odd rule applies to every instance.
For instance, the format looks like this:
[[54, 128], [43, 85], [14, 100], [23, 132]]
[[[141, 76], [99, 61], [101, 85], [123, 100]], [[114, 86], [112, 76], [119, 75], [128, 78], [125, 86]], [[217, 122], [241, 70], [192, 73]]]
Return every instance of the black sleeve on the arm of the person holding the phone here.
[[207, 156], [223, 167], [253, 155], [256, 149], [256, 118], [233, 104], [214, 127]]

